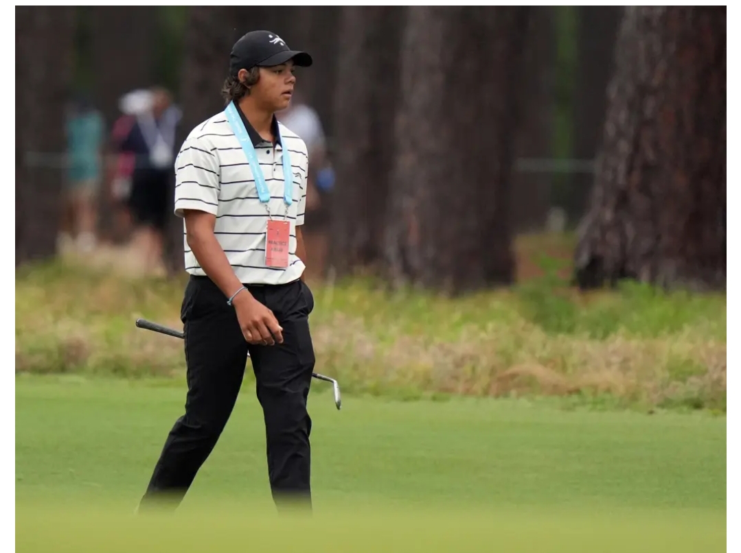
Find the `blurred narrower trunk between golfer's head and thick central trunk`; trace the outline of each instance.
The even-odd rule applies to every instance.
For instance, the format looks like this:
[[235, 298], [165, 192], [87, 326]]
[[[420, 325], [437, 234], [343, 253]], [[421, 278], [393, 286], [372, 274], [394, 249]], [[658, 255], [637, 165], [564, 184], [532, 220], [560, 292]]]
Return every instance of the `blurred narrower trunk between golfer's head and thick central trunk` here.
[[404, 16], [400, 7], [342, 9], [330, 246], [340, 276], [382, 260]]

